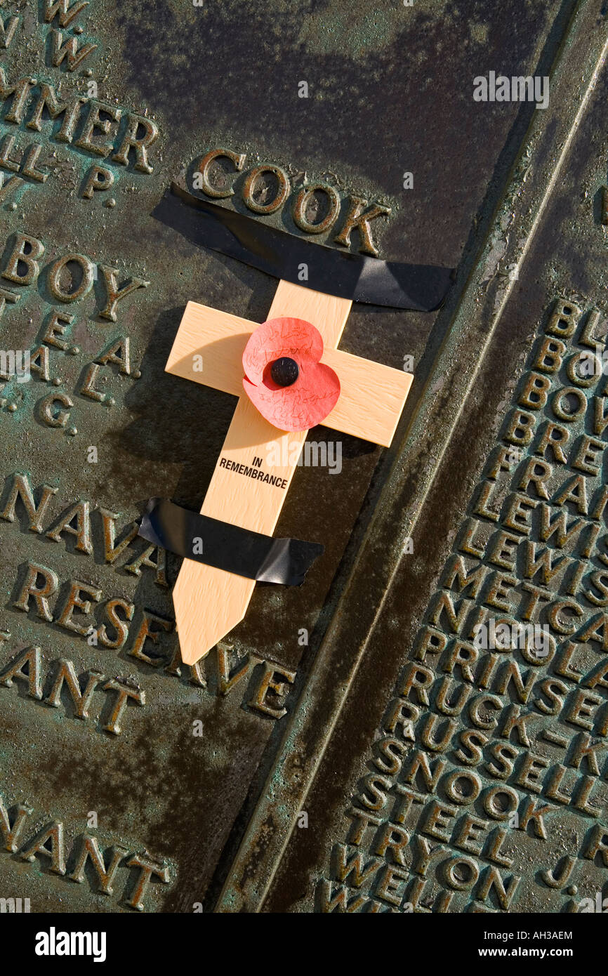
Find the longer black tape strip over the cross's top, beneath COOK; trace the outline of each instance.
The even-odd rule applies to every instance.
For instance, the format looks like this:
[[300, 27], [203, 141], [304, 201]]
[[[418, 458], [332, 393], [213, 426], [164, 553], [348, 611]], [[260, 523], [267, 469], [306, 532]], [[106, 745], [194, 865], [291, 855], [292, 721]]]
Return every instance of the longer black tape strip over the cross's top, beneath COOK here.
[[[419, 311], [441, 305], [450, 286], [452, 268], [400, 264], [337, 251], [208, 203], [177, 183], [171, 189], [173, 196], [165, 194], [153, 217], [179, 230], [192, 243], [251, 264], [275, 278], [353, 302]], [[307, 281], [298, 277], [300, 264], [307, 265]]]

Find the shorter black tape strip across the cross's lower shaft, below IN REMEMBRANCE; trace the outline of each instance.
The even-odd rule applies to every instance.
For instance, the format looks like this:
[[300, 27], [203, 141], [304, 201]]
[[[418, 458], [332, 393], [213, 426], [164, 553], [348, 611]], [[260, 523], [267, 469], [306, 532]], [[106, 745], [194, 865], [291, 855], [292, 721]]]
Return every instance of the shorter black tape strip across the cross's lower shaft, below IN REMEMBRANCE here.
[[246, 576], [248, 580], [282, 583], [286, 587], [302, 586], [312, 562], [324, 550], [319, 543], [273, 539], [250, 532], [162, 498], [149, 500], [139, 534], [154, 546], [187, 559]]

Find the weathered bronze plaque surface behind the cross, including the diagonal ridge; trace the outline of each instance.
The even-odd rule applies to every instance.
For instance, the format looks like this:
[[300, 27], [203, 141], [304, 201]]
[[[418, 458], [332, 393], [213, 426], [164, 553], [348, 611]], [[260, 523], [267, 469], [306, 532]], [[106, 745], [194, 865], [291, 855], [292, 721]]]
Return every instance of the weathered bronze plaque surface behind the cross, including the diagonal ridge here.
[[[503, 381], [523, 368], [535, 324], [546, 323], [543, 314], [557, 294], [580, 294], [585, 308], [601, 306], [603, 229], [593, 223], [589, 202], [605, 168], [599, 92], [584, 118], [588, 130], [574, 123], [604, 26], [599, 5], [581, 7], [586, 22], [571, 26], [573, 39], [561, 55], [560, 63], [568, 67], [555, 68], [549, 108], [536, 112], [526, 137], [536, 162], [530, 173], [521, 163], [515, 171], [509, 185], [517, 187], [517, 198], [507, 196], [507, 210], [499, 214], [506, 222], [488, 245], [491, 266], [485, 278], [473, 275], [467, 287], [470, 268], [480, 266], [475, 252], [493, 232], [492, 212], [535, 115], [532, 104], [473, 102], [477, 68], [471, 64], [479, 62], [480, 71], [495, 66], [508, 75], [548, 74], [573, 4], [517, 3], [497, 10], [480, 3], [474, 11], [466, 3], [381, 4], [374, 11], [365, 3], [349, 5], [348, 11], [302, 4], [286, 12], [278, 3], [117, 8], [92, 0], [63, 27], [59, 14], [45, 22], [44, 5], [0, 8], [5, 31], [11, 17], [19, 19], [8, 47], [0, 48], [7, 82], [37, 79], [20, 119], [12, 121], [15, 102], [9, 97], [0, 114], [0, 140], [15, 139], [0, 165], [7, 188], [0, 202], [0, 287], [20, 296], [4, 307], [0, 345], [45, 346], [49, 357], [48, 379], [47, 353], [42, 353], [34, 359], [41, 370], [29, 383], [13, 379], [0, 394], [0, 511], [12, 514], [16, 473], [25, 479], [23, 490], [31, 486], [38, 505], [42, 486], [50, 486], [36, 531], [30, 531], [20, 503], [14, 520], [0, 520], [0, 630], [7, 633], [0, 642], [0, 681], [24, 649], [41, 648], [39, 688], [34, 651], [27, 652], [30, 680], [11, 684], [9, 676], [0, 684], [0, 795], [11, 807], [11, 822], [15, 804], [32, 809], [23, 813], [15, 850], [0, 852], [0, 895], [28, 897], [37, 912], [138, 906], [192, 912], [199, 905], [212, 909], [225, 882], [223, 911], [312, 907], [313, 877], [332, 876], [325, 865], [333, 843], [344, 840], [348, 795], [351, 788], [357, 792], [367, 744], [437, 586], [448, 552], [447, 543], [440, 546], [437, 540], [454, 545], [449, 533], [460, 524], [492, 443], [489, 418], [498, 418], [498, 428], [505, 414]], [[80, 25], [82, 33], [76, 32]], [[60, 42], [53, 31], [62, 34], [61, 43], [72, 37], [79, 47], [97, 48], [73, 72], [66, 70], [67, 61], [54, 66], [53, 45]], [[299, 98], [303, 80], [307, 99]], [[58, 139], [64, 113], [55, 121], [44, 115], [39, 127], [32, 123], [40, 81], [54, 86], [58, 99], [61, 82], [60, 101], [70, 103], [76, 95], [85, 100], [71, 142]], [[97, 91], [88, 87], [91, 83]], [[101, 125], [87, 136], [92, 93], [122, 114], [115, 122], [102, 114]], [[134, 149], [120, 159], [130, 113], [158, 129], [147, 161]], [[142, 122], [135, 138], [145, 131]], [[569, 162], [571, 132], [588, 143], [577, 156], [584, 161], [580, 172]], [[102, 143], [108, 148], [98, 151]], [[22, 172], [34, 144], [42, 146], [37, 169], [49, 174], [44, 183]], [[437, 316], [353, 308], [343, 348], [397, 367], [406, 355], [414, 357], [416, 387], [401, 435], [385, 454], [341, 438], [340, 474], [328, 468], [297, 472], [277, 532], [322, 541], [322, 565], [301, 590], [259, 587], [243, 624], [200, 671], [189, 671], [177, 663], [172, 630], [170, 588], [179, 561], [168, 558], [165, 586], [162, 571], [143, 566], [134, 575], [137, 563], [131, 572], [125, 569], [144, 551], [141, 539], [114, 561], [108, 560], [106, 544], [112, 548], [113, 521], [120, 540], [152, 495], [198, 508], [222, 446], [234, 401], [164, 373], [183, 305], [194, 299], [263, 321], [276, 287], [253, 269], [196, 250], [150, 217], [170, 181], [184, 173], [191, 180], [201, 156], [217, 146], [247, 153], [232, 183], [234, 195], [223, 200], [226, 206], [246, 212], [241, 193], [247, 174], [268, 161], [290, 175], [296, 190], [304, 172], [307, 182], [335, 183], [342, 199], [340, 221], [348, 194], [389, 206], [390, 216], [373, 223], [382, 257], [461, 263], [461, 270]], [[23, 153], [20, 163], [12, 162]], [[548, 174], [551, 167], [557, 174], [559, 163], [559, 173], [567, 172], [570, 183], [556, 193]], [[95, 165], [105, 168], [113, 183], [87, 199], [83, 193]], [[152, 171], [143, 172], [146, 167]], [[414, 175], [413, 189], [402, 188], [405, 172]], [[16, 184], [11, 188], [6, 182], [11, 177], [23, 180], [15, 193]], [[99, 181], [104, 179], [109, 178], [101, 174]], [[572, 221], [566, 204], [578, 203], [583, 185], [587, 210], [575, 208], [579, 229], [573, 236], [564, 230]], [[289, 206], [259, 219], [302, 233]], [[521, 233], [511, 229], [511, 213], [513, 228], [520, 226]], [[563, 243], [553, 257], [556, 232]], [[31, 284], [2, 277], [19, 234], [45, 249]], [[334, 236], [318, 239], [331, 244]], [[350, 246], [358, 246], [356, 232]], [[92, 267], [95, 277], [82, 299], [67, 302], [61, 290], [73, 291], [80, 276], [70, 284], [65, 270], [60, 275], [54, 265], [74, 253], [86, 256], [81, 267], [85, 274]], [[594, 281], [582, 275], [581, 256]], [[509, 264], [521, 264], [514, 288], [504, 273]], [[116, 268], [118, 281], [112, 283], [101, 265]], [[17, 276], [24, 269], [18, 265]], [[118, 302], [115, 320], [103, 317], [108, 284], [116, 287], [132, 278], [147, 284]], [[63, 336], [47, 331], [45, 341], [54, 310], [74, 318], [61, 320]], [[103, 352], [127, 336], [129, 369], [123, 344], [122, 368], [107, 360], [91, 372]], [[44, 401], [58, 393], [72, 405], [56, 401], [51, 419], [59, 406], [69, 417], [64, 427], [51, 427]], [[321, 440], [318, 431], [314, 439]], [[97, 449], [97, 461], [89, 460], [91, 448]], [[58, 523], [78, 500], [88, 502], [90, 510], [79, 509], [84, 528], [76, 538], [69, 525], [58, 532]], [[414, 554], [402, 559], [402, 539], [417, 518]], [[28, 563], [47, 570], [48, 611], [44, 604], [36, 608], [33, 597], [25, 602]], [[32, 585], [43, 579], [44, 574], [31, 577]], [[84, 614], [76, 604], [73, 619], [70, 581], [84, 585], [79, 594], [74, 587], [72, 601], [91, 603]], [[122, 643], [107, 618], [112, 599], [124, 601], [118, 616], [127, 619], [128, 634]], [[150, 624], [158, 637], [142, 643], [145, 612], [148, 621], [150, 614], [159, 618]], [[103, 623], [105, 644], [98, 638], [96, 646], [86, 630]], [[72, 663], [82, 689], [91, 682], [89, 708], [81, 703], [89, 717], [77, 717], [65, 684], [57, 691], [60, 659]], [[274, 671], [287, 695], [268, 690]], [[121, 690], [130, 697], [118, 720], [112, 709]], [[194, 734], [200, 730], [197, 722], [202, 735]], [[292, 831], [324, 750], [314, 790], [305, 799], [310, 827]], [[55, 861], [32, 850], [36, 831], [53, 823], [63, 825], [64, 832], [62, 839], [56, 826]], [[106, 866], [110, 845], [122, 851], [110, 894], [100, 891], [91, 864], [80, 870], [86, 850], [82, 834], [98, 838]], [[33, 861], [23, 857], [28, 849]], [[521, 852], [522, 859], [528, 857], [523, 844]], [[145, 859], [159, 874], [142, 889], [146, 871], [139, 861]], [[548, 854], [543, 866], [553, 866]], [[82, 879], [73, 883], [70, 876]], [[588, 878], [595, 883], [590, 872]], [[535, 885], [530, 890], [542, 894]], [[554, 909], [547, 903], [547, 910]]]

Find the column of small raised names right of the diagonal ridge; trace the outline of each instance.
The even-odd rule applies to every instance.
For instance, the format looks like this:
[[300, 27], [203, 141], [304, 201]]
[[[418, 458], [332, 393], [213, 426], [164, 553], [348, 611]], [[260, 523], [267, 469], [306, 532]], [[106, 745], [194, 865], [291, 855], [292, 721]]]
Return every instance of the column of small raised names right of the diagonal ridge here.
[[[603, 331], [597, 310], [555, 303], [317, 887], [321, 911], [516, 908], [524, 834], [543, 899], [581, 862], [608, 868]], [[546, 864], [557, 815], [576, 840]]]

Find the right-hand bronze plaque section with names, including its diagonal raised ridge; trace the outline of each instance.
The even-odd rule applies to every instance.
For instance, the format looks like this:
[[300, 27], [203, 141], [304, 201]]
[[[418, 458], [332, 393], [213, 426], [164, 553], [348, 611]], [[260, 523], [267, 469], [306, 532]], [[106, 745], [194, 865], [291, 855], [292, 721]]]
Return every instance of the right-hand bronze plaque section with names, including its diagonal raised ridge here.
[[[311, 726], [319, 722], [313, 687], [309, 713], [294, 716], [277, 763], [291, 792], [278, 793], [280, 809], [261, 799], [250, 833], [257, 829], [264, 837], [264, 854], [252, 858], [246, 836], [223, 910], [244, 904], [275, 912], [588, 912], [598, 911], [605, 896], [606, 700], [597, 681], [605, 671], [605, 615], [603, 596], [593, 588], [603, 579], [605, 559], [605, 441], [597, 441], [593, 467], [582, 468], [577, 456], [586, 438], [600, 436], [595, 410], [605, 393], [604, 17], [600, 5], [582, 4], [570, 26], [552, 72], [550, 109], [533, 121], [485, 246], [450, 312], [454, 338], [439, 353], [435, 396], [421, 402], [391, 471], [393, 491], [379, 507], [368, 558], [373, 564], [395, 535], [398, 552], [413, 527], [414, 552], [392, 563], [380, 612], [361, 643], [358, 611], [348, 615], [362, 598], [361, 577], [353, 577], [345, 615], [328, 644], [335, 666], [344, 664], [341, 694], [322, 718], [334, 723], [327, 751], [319, 762], [318, 748], [308, 749]], [[557, 338], [558, 308], [569, 301], [578, 310], [557, 339], [563, 346], [555, 346], [554, 368], [547, 368], [540, 350]], [[581, 379], [576, 366], [586, 352], [597, 365]], [[459, 381], [471, 355], [478, 356], [479, 371]], [[545, 393], [530, 398], [531, 378], [547, 399]], [[468, 383], [469, 395], [459, 402]], [[529, 444], [513, 436], [516, 410], [528, 414]], [[454, 424], [443, 442], [436, 436], [440, 417]], [[542, 446], [550, 424], [566, 431], [563, 456]], [[497, 473], [501, 448], [506, 469]], [[513, 450], [519, 454], [511, 456]], [[414, 485], [430, 483], [436, 469], [420, 511]], [[540, 487], [529, 477], [539, 474]], [[569, 487], [583, 485], [594, 506], [590, 500], [573, 505]], [[483, 504], [486, 491], [492, 511]], [[530, 517], [513, 521], [521, 499]], [[547, 518], [561, 517], [597, 545], [575, 544], [574, 533], [569, 541], [559, 532], [551, 537]], [[468, 545], [468, 530], [480, 533], [479, 546]], [[508, 555], [501, 551], [505, 541]], [[455, 577], [459, 558], [466, 572], [481, 566], [485, 582], [478, 578], [477, 589], [470, 577], [466, 586]], [[361, 564], [359, 570], [364, 574]], [[505, 592], [497, 595], [499, 581]], [[446, 613], [449, 600], [458, 620], [451, 607]], [[474, 627], [492, 618], [547, 625], [548, 657], [525, 648], [476, 651]], [[435, 647], [425, 651], [431, 632]], [[478, 657], [470, 671], [455, 664], [459, 647], [464, 659]], [[513, 666], [519, 673], [509, 671]], [[315, 678], [322, 679], [317, 673], [311, 684]], [[417, 681], [426, 684], [420, 698]], [[550, 702], [549, 688], [558, 695]], [[578, 704], [588, 694], [583, 716]], [[417, 709], [409, 712], [408, 702]], [[474, 702], [483, 702], [481, 716], [471, 717]], [[527, 730], [521, 734], [511, 727], [520, 715]], [[374, 745], [356, 754], [363, 742]], [[467, 748], [471, 743], [478, 753]], [[595, 748], [595, 759], [584, 757], [587, 747]], [[413, 772], [421, 752], [430, 763], [428, 780]], [[493, 761], [501, 753], [508, 756], [504, 766]], [[452, 778], [462, 774], [465, 780]], [[411, 806], [408, 791], [416, 793]], [[496, 791], [506, 791], [498, 809], [488, 799]], [[509, 818], [511, 804], [519, 821]], [[307, 830], [297, 827], [301, 807]], [[535, 826], [528, 814], [539, 808], [543, 824]], [[438, 827], [436, 815], [445, 817]], [[467, 817], [476, 818], [474, 841]], [[425, 843], [436, 845], [428, 864]]]

